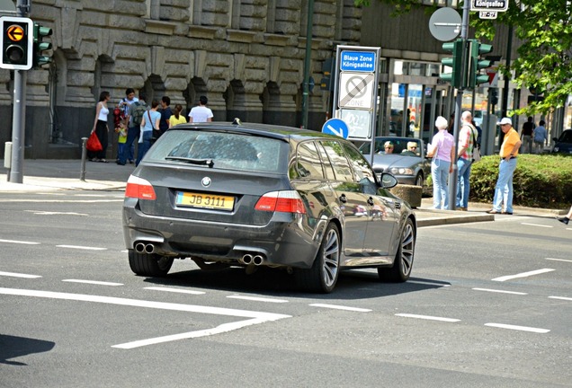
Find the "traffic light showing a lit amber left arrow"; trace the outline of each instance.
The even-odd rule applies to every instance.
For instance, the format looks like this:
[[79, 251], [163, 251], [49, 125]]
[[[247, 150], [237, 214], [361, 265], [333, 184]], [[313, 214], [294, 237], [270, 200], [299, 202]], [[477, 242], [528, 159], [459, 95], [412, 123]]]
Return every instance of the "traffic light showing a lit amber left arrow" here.
[[29, 18], [0, 17], [0, 68], [30, 70], [32, 65], [33, 22]]

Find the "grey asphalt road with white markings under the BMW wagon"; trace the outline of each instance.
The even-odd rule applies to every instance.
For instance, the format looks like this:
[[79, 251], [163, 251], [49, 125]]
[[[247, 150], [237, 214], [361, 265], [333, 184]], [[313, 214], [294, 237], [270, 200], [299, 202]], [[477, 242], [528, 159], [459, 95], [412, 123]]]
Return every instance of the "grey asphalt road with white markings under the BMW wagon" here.
[[2, 387], [572, 386], [572, 227], [419, 230], [413, 278], [134, 276], [120, 192], [0, 193]]

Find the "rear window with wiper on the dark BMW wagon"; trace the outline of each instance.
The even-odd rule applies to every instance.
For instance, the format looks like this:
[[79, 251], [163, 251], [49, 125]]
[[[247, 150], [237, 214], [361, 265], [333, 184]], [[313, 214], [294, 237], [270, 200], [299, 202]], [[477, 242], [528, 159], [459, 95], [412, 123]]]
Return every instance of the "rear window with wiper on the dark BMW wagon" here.
[[211, 161], [215, 169], [285, 173], [287, 153], [286, 142], [270, 137], [172, 129], [157, 140], [144, 160], [182, 164]]

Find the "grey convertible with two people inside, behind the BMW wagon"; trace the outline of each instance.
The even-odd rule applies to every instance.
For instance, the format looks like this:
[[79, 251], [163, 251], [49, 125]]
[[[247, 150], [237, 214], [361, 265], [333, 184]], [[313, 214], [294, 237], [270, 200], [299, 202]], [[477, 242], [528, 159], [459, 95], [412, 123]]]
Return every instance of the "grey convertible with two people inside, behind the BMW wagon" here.
[[[393, 153], [386, 154], [383, 145], [391, 142]], [[416, 152], [407, 151], [407, 143], [416, 143]], [[373, 155], [373, 170], [380, 175], [390, 172], [401, 184], [424, 186], [431, 174], [431, 159], [427, 158], [425, 141], [412, 137], [376, 137]], [[371, 142], [360, 146], [360, 152], [369, 155]], [[367, 156], [366, 156], [367, 157]]]

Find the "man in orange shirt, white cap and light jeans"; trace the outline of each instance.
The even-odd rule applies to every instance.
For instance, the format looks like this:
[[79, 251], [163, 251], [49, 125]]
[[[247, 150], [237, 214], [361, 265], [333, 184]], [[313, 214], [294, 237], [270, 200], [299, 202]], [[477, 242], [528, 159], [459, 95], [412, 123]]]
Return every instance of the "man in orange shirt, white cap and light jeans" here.
[[[488, 214], [513, 214], [513, 175], [516, 169], [516, 157], [522, 142], [518, 132], [513, 128], [513, 120], [503, 118], [496, 123], [505, 134], [503, 144], [500, 149], [500, 165], [498, 167], [498, 179], [495, 186], [495, 199], [493, 208], [488, 210]], [[505, 203], [505, 210], [501, 211], [501, 206]]]

